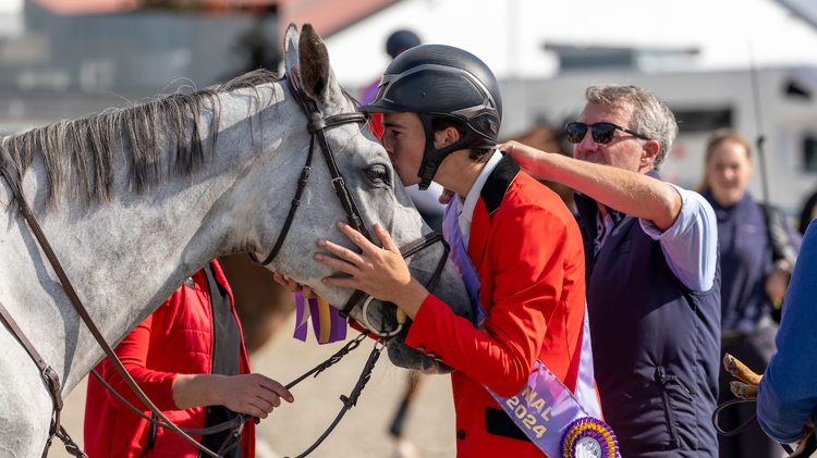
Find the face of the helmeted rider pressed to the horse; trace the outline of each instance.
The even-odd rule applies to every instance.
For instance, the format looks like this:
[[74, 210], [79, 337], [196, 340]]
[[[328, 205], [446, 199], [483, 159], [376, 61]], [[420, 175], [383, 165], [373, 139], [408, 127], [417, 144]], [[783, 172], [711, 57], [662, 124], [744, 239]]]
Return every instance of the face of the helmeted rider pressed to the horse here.
[[419, 183], [419, 165], [426, 149], [426, 133], [415, 113], [383, 113], [380, 140], [403, 186]]

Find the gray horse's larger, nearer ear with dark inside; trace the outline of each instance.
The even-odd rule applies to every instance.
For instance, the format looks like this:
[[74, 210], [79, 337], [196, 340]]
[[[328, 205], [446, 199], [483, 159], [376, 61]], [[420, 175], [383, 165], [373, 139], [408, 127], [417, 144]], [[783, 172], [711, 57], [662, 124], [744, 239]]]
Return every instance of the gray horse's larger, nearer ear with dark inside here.
[[324, 40], [310, 24], [304, 24], [298, 42], [301, 83], [304, 91], [317, 100], [326, 103], [330, 97], [330, 90], [337, 84], [331, 66], [329, 66], [329, 51]]

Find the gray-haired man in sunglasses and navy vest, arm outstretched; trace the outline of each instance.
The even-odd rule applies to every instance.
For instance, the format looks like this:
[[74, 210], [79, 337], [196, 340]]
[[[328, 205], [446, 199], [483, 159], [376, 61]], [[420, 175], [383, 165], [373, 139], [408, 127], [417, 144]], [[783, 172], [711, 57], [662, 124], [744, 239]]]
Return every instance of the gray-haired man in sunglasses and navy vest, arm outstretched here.
[[716, 457], [720, 270], [712, 208], [660, 181], [678, 133], [651, 92], [589, 87], [574, 159], [511, 141], [523, 170], [576, 190], [605, 420], [632, 457]]

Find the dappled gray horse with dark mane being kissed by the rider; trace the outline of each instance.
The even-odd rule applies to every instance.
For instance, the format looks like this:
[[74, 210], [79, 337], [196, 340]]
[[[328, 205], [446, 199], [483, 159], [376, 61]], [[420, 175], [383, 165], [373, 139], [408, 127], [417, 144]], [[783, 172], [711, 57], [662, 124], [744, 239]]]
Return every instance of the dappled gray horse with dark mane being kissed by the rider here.
[[[303, 87], [325, 116], [355, 111], [310, 26], [300, 33], [291, 25], [284, 48], [286, 69], [300, 65]], [[0, 160], [21, 177], [23, 194], [80, 297], [106, 339], [117, 344], [209, 260], [269, 252], [309, 149], [306, 124], [286, 81], [258, 71], [194, 94], [3, 138]], [[327, 140], [369, 232], [379, 222], [403, 245], [429, 231], [367, 128], [333, 126]], [[15, 210], [4, 181], [0, 201], [7, 206], [0, 301], [68, 395], [102, 350]], [[343, 305], [352, 292], [324, 285], [320, 278], [333, 272], [312, 259], [319, 237], [349, 246], [334, 226], [344, 219], [316, 151], [300, 210], [269, 269]], [[439, 244], [420, 251], [408, 260], [412, 272], [428, 280], [441, 256]], [[470, 313], [450, 262], [435, 294], [459, 314]], [[368, 322], [379, 325], [381, 310], [373, 302]], [[358, 306], [352, 317], [359, 313]], [[400, 344], [404, 335], [389, 344], [395, 364], [425, 372], [449, 369]], [[3, 326], [0, 349], [0, 457], [39, 457], [51, 398], [35, 363]]]

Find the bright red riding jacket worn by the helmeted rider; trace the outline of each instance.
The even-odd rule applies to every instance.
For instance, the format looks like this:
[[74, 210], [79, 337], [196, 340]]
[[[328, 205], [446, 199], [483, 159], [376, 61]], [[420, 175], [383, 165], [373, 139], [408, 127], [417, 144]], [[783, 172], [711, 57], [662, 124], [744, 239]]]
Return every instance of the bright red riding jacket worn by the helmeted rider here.
[[531, 442], [486, 432], [486, 407], [500, 407], [483, 385], [516, 395], [538, 358], [575, 389], [585, 313], [582, 234], [559, 196], [519, 173], [492, 214], [478, 201], [468, 256], [481, 281], [486, 330], [428, 295], [405, 343], [456, 369], [458, 456], [541, 457]]

